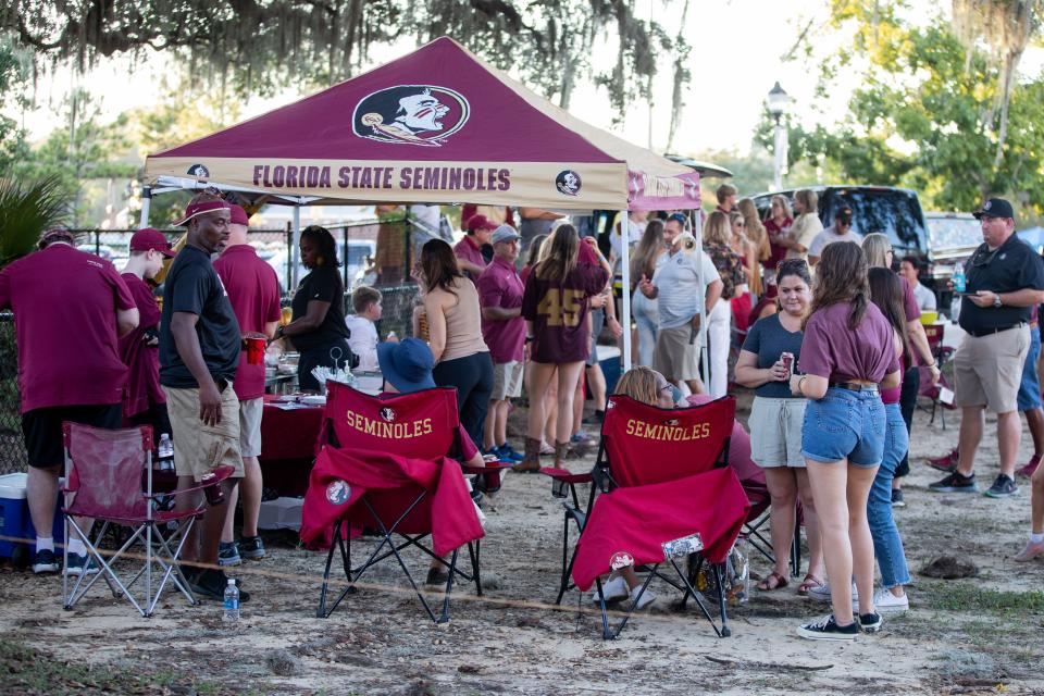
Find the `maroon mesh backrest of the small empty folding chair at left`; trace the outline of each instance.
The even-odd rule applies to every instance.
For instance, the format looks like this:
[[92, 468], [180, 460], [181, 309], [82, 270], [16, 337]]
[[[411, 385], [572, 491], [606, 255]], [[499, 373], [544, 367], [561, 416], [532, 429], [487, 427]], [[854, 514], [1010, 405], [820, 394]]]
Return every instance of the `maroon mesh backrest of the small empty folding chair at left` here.
[[110, 431], [78, 423], [63, 427], [72, 462], [69, 487], [76, 490], [69, 512], [107, 519], [145, 517], [141, 472], [151, 449], [151, 428]]

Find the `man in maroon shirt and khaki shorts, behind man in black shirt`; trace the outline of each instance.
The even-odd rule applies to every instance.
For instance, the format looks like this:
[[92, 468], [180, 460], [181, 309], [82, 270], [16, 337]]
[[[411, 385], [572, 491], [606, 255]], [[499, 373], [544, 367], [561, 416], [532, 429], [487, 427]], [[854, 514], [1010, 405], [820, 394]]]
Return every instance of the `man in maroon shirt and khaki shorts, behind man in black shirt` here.
[[[214, 261], [214, 270], [225, 284], [232, 311], [239, 322], [244, 337], [272, 338], [279, 325], [279, 282], [271, 265], [258, 257], [247, 244], [248, 219], [239, 206], [232, 207], [228, 241]], [[258, 536], [258, 514], [261, 511], [261, 412], [264, 397], [264, 363], [251, 365], [247, 352], [239, 353], [239, 366], [233, 383], [239, 397], [239, 450], [243, 455], [244, 477], [232, 494], [228, 517], [221, 535], [217, 560], [222, 566], [236, 566], [240, 557], [252, 560], [264, 558], [264, 544]], [[243, 492], [243, 538], [235, 543], [233, 521], [236, 498]]]

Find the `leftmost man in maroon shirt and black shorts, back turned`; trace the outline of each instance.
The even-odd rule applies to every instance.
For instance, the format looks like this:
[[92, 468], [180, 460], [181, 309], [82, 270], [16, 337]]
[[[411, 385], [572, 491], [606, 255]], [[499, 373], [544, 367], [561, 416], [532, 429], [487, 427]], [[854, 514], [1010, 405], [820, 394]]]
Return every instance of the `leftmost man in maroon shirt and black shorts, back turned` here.
[[[0, 309], [14, 310], [38, 574], [58, 572], [52, 529], [64, 461], [62, 421], [120, 427], [127, 368], [116, 338], [138, 325], [134, 298], [115, 266], [76, 249], [66, 229], [46, 233], [39, 247], [0, 270]], [[77, 523], [89, 530], [91, 521]], [[66, 574], [89, 570], [82, 540], [70, 539], [67, 550]]]

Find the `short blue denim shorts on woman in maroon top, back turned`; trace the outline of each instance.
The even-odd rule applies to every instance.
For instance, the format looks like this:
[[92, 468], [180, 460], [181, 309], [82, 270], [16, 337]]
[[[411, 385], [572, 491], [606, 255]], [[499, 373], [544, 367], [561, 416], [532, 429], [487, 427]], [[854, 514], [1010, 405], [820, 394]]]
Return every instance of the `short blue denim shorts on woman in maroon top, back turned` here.
[[881, 395], [830, 387], [823, 398], [809, 399], [801, 425], [801, 455], [824, 463], [847, 459], [856, 467], [880, 464], [884, 455]]

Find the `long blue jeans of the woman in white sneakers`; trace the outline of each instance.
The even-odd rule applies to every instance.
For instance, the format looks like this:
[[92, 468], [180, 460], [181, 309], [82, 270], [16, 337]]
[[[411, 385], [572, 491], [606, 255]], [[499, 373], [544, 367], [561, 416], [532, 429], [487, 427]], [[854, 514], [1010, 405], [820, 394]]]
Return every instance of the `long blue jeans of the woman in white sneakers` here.
[[906, 421], [903, 420], [898, 403], [885, 405], [884, 413], [884, 459], [870, 487], [867, 522], [873, 537], [873, 552], [881, 568], [881, 585], [895, 587], [910, 582], [910, 571], [906, 567], [906, 554], [903, 551], [903, 537], [899, 536], [899, 530], [892, 517], [892, 478], [896, 467], [910, 447], [910, 436], [906, 432]]

